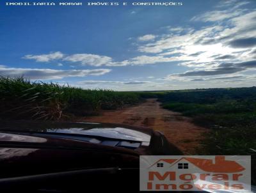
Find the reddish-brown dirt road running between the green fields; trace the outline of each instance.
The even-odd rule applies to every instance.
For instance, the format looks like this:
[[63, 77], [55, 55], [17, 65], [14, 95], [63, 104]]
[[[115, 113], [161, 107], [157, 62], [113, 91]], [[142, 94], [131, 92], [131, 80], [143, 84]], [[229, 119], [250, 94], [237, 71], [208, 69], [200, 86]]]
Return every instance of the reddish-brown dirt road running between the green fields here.
[[163, 132], [170, 142], [187, 155], [195, 154], [195, 148], [202, 147], [200, 140], [208, 131], [206, 128], [194, 125], [191, 118], [182, 116], [179, 112], [161, 108], [155, 98], [150, 98], [147, 102], [134, 107], [103, 111], [102, 115], [83, 118], [83, 121], [151, 127]]

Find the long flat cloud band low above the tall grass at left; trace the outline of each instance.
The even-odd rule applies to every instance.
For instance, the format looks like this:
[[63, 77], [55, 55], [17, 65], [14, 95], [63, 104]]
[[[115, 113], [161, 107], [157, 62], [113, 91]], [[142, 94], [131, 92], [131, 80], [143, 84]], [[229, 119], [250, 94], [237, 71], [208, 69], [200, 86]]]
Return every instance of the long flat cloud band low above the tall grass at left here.
[[39, 68], [8, 68], [0, 66], [0, 75], [8, 77], [24, 76], [29, 79], [63, 79], [64, 77], [86, 77], [88, 75], [104, 75], [110, 72], [110, 69], [94, 70], [53, 70]]

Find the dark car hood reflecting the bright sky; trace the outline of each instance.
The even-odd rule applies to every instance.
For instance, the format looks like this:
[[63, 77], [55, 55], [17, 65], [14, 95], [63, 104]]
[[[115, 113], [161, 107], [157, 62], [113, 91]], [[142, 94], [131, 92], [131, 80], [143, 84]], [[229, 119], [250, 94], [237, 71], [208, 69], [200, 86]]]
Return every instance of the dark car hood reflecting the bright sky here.
[[[2, 123], [0, 132], [29, 132], [41, 134], [83, 135], [106, 137], [110, 139], [122, 139], [127, 141], [139, 141], [149, 143], [152, 130], [144, 127], [131, 127], [129, 125], [109, 123], [85, 123], [85, 122], [35, 122], [18, 121], [15, 123]], [[0, 138], [1, 141], [1, 138]]]

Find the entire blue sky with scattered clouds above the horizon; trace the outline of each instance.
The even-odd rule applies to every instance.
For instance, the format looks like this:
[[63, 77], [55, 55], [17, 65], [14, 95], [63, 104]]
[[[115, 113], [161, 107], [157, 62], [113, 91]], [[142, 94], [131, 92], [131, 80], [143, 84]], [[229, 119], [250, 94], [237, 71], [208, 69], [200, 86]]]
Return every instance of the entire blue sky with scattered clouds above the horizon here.
[[255, 0], [6, 2], [13, 1], [0, 3], [2, 76], [116, 91], [256, 86]]

